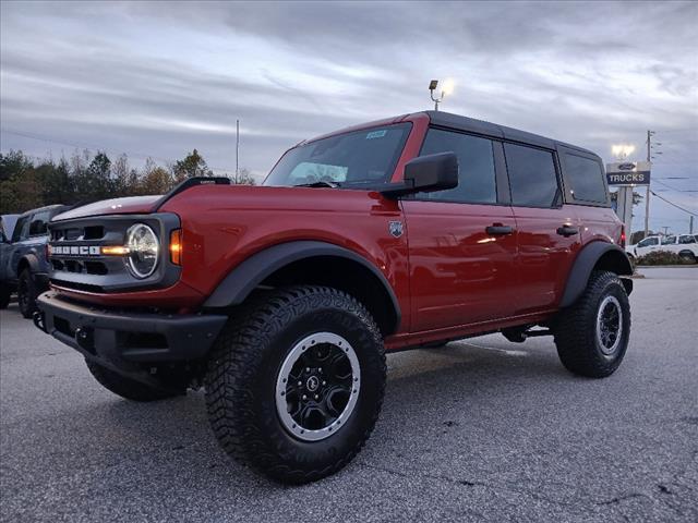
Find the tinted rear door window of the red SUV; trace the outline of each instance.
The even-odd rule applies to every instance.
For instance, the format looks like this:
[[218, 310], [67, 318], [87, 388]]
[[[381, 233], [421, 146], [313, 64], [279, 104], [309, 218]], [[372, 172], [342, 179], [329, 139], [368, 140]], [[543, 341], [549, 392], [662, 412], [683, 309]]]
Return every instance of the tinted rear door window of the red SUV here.
[[553, 154], [515, 144], [504, 144], [504, 153], [512, 187], [512, 205], [555, 206], [559, 187]]

